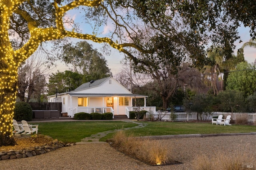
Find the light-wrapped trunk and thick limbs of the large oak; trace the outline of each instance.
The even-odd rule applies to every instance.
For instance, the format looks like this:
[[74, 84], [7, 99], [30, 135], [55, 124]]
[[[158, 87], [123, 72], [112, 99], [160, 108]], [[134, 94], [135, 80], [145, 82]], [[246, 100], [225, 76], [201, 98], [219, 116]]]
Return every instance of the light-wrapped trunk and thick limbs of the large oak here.
[[[58, 4], [59, 3], [59, 4]], [[18, 67], [44, 41], [75, 37], [108, 43], [132, 57], [125, 47], [144, 51], [134, 43], [116, 43], [107, 37], [68, 31], [66, 12], [79, 6], [97, 8], [102, 0], [0, 0], [0, 146], [14, 145], [12, 117], [16, 101]]]

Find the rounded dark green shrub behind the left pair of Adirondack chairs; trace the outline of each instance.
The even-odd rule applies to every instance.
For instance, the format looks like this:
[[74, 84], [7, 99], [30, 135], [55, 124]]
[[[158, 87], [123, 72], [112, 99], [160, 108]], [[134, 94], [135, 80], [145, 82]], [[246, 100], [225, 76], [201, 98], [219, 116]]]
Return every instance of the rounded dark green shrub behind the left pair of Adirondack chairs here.
[[32, 121], [33, 111], [30, 104], [26, 102], [16, 102], [14, 108], [14, 117], [16, 121]]

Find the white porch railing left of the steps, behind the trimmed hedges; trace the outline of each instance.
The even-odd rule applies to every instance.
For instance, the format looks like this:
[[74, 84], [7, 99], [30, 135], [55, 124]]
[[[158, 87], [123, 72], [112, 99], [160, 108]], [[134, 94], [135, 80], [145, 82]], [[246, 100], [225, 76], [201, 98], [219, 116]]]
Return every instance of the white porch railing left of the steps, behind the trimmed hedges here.
[[70, 116], [74, 117], [76, 113], [85, 112], [85, 113], [113, 113], [114, 119], [114, 109], [112, 107], [75, 107], [70, 109]]

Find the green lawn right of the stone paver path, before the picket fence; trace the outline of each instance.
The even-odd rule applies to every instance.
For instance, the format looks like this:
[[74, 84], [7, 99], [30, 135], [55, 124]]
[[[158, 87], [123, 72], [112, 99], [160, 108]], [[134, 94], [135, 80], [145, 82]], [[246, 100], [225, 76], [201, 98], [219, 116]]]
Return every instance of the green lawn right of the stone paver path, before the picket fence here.
[[[141, 121], [143, 122], [143, 121]], [[193, 122], [150, 122], [145, 121], [148, 125], [144, 128], [128, 130], [135, 136], [155, 136], [155, 135], [178, 135], [178, 134], [208, 134], [208, 133], [248, 133], [256, 132], [256, 126], [250, 125], [216, 125], [209, 123], [193, 123]], [[109, 134], [100, 141], [112, 138], [113, 134]]]

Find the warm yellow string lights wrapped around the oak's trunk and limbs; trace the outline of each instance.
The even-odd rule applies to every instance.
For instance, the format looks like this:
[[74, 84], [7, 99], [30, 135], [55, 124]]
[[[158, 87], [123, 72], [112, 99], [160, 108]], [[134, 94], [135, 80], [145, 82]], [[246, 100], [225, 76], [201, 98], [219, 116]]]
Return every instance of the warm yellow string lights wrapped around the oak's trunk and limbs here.
[[[103, 0], [74, 0], [63, 6], [61, 6], [61, 0], [53, 1], [55, 26], [39, 27], [38, 22], [30, 16], [29, 12], [19, 8], [22, 3], [26, 3], [26, 0], [0, 0], [0, 146], [15, 144], [12, 138], [12, 118], [16, 100], [18, 66], [38, 49], [40, 43], [63, 39], [64, 37], [74, 37], [97, 43], [108, 43], [111, 47], [126, 54], [128, 52], [123, 47], [133, 46], [132, 44], [117, 44], [106, 37], [99, 38], [95, 35], [65, 30], [63, 18], [66, 12], [79, 6], [97, 7]], [[28, 41], [17, 50], [12, 48], [8, 34], [10, 18], [13, 13], [26, 20], [30, 33]]]

